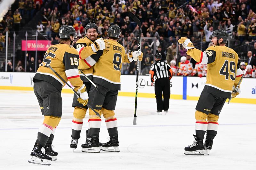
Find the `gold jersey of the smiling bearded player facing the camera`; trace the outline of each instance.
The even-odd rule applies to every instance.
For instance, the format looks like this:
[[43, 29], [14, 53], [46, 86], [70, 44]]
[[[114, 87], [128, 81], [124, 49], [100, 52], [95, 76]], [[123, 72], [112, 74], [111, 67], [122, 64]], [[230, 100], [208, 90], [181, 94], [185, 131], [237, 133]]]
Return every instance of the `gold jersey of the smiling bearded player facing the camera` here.
[[[82, 70], [83, 73], [89, 79], [92, 80], [93, 65], [98, 61], [98, 59], [103, 53], [103, 50], [93, 53], [90, 46], [91, 43], [92, 41], [87, 37], [80, 38], [79, 40], [76, 41], [76, 50], [79, 53], [78, 69]], [[88, 79], [85, 78], [84, 75], [80, 73], [80, 71], [79, 71], [79, 75], [81, 80], [83, 80], [83, 82], [88, 82]]]

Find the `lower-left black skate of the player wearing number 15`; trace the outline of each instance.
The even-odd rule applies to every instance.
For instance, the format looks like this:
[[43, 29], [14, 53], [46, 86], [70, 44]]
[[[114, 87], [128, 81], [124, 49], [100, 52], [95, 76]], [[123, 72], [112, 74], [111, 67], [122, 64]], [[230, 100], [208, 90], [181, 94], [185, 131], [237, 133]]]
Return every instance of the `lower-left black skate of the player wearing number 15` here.
[[35, 144], [30, 156], [31, 158], [28, 162], [31, 164], [51, 165], [52, 158], [45, 154], [44, 147], [42, 145]]

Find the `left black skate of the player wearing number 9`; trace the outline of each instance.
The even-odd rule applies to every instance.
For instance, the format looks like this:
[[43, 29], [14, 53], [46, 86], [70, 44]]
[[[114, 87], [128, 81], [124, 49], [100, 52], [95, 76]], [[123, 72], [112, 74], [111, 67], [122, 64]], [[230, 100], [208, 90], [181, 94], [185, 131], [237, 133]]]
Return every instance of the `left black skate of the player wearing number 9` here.
[[100, 153], [99, 137], [91, 137], [89, 142], [82, 144], [82, 152]]

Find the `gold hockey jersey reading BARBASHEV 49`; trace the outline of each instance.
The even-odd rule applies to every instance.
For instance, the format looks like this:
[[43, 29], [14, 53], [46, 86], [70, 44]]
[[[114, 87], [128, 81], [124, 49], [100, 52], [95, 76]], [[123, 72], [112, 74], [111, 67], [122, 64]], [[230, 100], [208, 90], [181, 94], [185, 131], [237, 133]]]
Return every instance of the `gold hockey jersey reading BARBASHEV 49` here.
[[204, 52], [196, 48], [188, 49], [187, 54], [196, 62], [207, 64], [204, 91], [230, 98], [233, 85], [238, 84], [243, 74], [237, 53], [226, 46], [211, 46]]

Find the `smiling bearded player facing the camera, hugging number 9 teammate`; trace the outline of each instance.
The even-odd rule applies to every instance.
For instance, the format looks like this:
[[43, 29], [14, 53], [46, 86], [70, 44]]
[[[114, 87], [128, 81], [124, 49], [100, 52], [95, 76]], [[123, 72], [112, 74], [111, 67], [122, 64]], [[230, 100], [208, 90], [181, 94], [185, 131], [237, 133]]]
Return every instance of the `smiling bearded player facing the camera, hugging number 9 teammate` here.
[[[98, 26], [95, 23], [89, 23], [85, 26], [85, 34], [86, 36], [76, 41], [76, 50], [79, 52], [79, 60], [78, 60], [78, 69], [82, 70], [83, 73], [92, 80], [92, 65], [96, 63], [99, 57], [103, 53], [103, 49], [108, 51], [110, 47], [110, 43], [108, 40], [97, 39], [99, 33]], [[98, 50], [95, 50], [97, 49]], [[96, 60], [96, 61], [95, 61]], [[80, 73], [80, 78], [83, 80], [84, 85], [86, 86], [87, 91], [89, 92], [91, 83], [88, 81], [85, 76]], [[70, 148], [76, 149], [78, 139], [80, 138], [81, 130], [83, 127], [83, 120], [88, 109], [87, 106], [83, 106], [79, 102], [77, 102], [77, 95], [74, 94], [73, 104], [74, 108], [73, 112], [73, 120], [72, 120], [72, 134], [71, 134], [71, 144]], [[88, 140], [89, 129], [86, 130]], [[87, 142], [87, 141], [86, 141]]]

